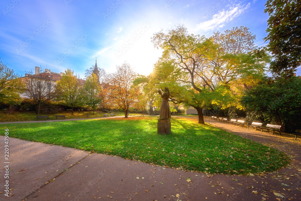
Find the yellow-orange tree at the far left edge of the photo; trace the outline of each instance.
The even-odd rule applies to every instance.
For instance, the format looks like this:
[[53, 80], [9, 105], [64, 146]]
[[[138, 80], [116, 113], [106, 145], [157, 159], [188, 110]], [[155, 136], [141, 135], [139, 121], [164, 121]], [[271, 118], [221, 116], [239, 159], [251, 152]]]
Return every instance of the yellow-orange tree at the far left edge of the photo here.
[[0, 103], [13, 105], [20, 102], [19, 93], [24, 92], [24, 85], [13, 69], [0, 59]]

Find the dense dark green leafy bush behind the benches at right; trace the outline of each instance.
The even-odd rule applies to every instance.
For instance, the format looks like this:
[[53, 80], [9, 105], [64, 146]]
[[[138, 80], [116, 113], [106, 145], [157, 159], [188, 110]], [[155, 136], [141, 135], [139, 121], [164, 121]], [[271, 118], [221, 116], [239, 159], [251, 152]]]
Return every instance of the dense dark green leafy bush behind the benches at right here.
[[268, 123], [283, 125], [288, 133], [301, 131], [301, 77], [266, 77], [245, 92], [241, 103], [246, 111]]

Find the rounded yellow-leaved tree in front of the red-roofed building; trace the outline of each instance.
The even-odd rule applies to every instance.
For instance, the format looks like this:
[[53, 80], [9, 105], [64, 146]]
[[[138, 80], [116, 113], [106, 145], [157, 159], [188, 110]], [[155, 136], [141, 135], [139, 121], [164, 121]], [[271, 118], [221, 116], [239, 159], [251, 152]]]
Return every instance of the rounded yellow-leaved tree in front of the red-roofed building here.
[[65, 105], [72, 108], [72, 115], [74, 107], [83, 104], [83, 89], [80, 84], [78, 75], [68, 68], [63, 73], [61, 80], [57, 81], [56, 85], [57, 100], [63, 101]]

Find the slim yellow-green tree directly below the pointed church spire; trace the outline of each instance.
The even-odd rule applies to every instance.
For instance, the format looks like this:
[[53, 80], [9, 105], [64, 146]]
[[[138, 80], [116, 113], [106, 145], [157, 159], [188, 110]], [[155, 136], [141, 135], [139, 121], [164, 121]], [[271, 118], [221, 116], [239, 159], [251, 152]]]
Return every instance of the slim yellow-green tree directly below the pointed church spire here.
[[98, 83], [98, 78], [94, 73], [89, 75], [84, 84], [85, 102], [88, 106], [92, 107], [93, 115], [97, 106], [102, 102], [101, 88]]

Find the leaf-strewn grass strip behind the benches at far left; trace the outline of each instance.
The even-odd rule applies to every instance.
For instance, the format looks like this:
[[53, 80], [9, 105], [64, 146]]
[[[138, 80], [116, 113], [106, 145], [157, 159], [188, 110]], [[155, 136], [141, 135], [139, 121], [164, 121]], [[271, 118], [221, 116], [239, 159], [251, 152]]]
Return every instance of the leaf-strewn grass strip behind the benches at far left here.
[[[120, 111], [114, 111], [109, 112], [109, 114], [114, 113], [116, 116], [124, 116], [124, 112]], [[87, 115], [89, 115], [89, 118], [95, 118], [95, 117], [104, 117], [104, 113], [102, 111], [95, 111], [95, 114], [93, 115], [93, 111], [74, 111], [73, 115], [71, 115], [71, 111], [60, 111], [57, 114], [47, 114], [47, 113], [41, 113], [40, 116], [49, 116], [50, 120], [55, 119], [55, 115], [65, 115], [67, 119], [80, 119], [80, 118], [87, 118]], [[129, 116], [133, 115], [142, 115], [137, 113], [129, 113]], [[144, 114], [147, 115], [147, 114]], [[0, 122], [9, 122], [9, 121], [36, 121], [36, 112], [28, 111], [28, 112], [5, 112], [0, 111]]]

